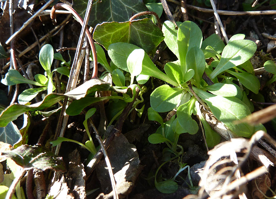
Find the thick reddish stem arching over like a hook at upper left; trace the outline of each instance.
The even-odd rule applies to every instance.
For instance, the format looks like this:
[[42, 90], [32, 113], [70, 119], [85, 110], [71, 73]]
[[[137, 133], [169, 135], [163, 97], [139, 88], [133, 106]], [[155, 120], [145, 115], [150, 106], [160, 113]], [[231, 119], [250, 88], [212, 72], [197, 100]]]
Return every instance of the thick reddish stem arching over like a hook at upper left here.
[[[51, 17], [53, 22], [56, 23], [56, 10], [59, 9], [59, 8], [64, 8], [64, 9], [67, 9], [68, 11], [70, 11], [74, 15], [74, 17], [77, 18], [79, 23], [83, 26], [83, 20], [79, 16], [79, 14], [72, 7], [68, 6], [65, 3], [58, 3], [58, 4], [56, 4], [55, 6], [52, 7], [50, 17]], [[93, 54], [94, 68], [93, 68], [93, 74], [92, 74], [92, 77], [91, 77], [91, 79], [93, 79], [93, 78], [97, 78], [97, 76], [98, 76], [97, 52], [96, 52], [95, 44], [94, 44], [91, 33], [89, 32], [89, 30], [87, 28], [86, 28], [85, 31], [86, 31], [86, 36], [87, 36], [88, 41], [90, 43], [90, 47], [91, 47], [92, 54]]]

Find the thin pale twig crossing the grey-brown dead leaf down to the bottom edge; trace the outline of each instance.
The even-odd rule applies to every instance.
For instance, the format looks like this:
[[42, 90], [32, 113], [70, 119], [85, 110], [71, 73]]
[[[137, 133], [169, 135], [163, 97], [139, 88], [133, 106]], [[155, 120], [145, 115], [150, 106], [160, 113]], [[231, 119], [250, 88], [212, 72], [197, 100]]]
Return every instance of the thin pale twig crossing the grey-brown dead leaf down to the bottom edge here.
[[118, 196], [118, 190], [117, 190], [117, 187], [116, 187], [116, 182], [115, 182], [115, 179], [114, 179], [114, 175], [113, 175], [113, 171], [112, 171], [112, 167], [111, 167], [111, 164], [110, 164], [110, 161], [109, 161], [109, 158], [107, 156], [107, 152], [106, 152], [106, 149], [105, 149], [105, 146], [104, 144], [102, 143], [102, 138], [100, 137], [99, 135], [99, 132], [97, 130], [97, 128], [95, 127], [93, 121], [91, 118], [88, 119], [89, 120], [89, 123], [90, 125], [93, 127], [94, 131], [95, 131], [95, 135], [96, 135], [96, 138], [102, 148], [102, 152], [103, 152], [103, 155], [105, 156], [105, 163], [107, 165], [107, 169], [108, 169], [108, 172], [109, 172], [109, 177], [110, 177], [110, 180], [111, 180], [111, 185], [112, 185], [112, 189], [113, 189], [113, 198], [115, 199], [119, 199], [119, 196]]

